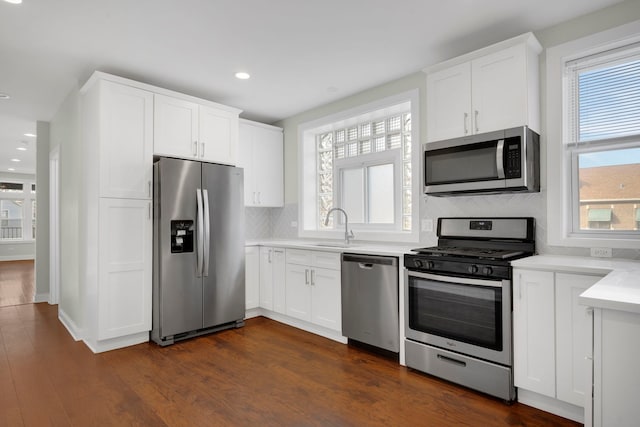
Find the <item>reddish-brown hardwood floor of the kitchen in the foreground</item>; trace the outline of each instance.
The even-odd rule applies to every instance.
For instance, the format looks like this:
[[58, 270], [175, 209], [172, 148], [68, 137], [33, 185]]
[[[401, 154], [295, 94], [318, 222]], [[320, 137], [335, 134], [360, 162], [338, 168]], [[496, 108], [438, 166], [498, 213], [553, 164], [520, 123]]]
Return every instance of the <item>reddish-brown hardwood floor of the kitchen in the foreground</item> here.
[[265, 318], [94, 355], [41, 303], [0, 308], [0, 425], [577, 424]]

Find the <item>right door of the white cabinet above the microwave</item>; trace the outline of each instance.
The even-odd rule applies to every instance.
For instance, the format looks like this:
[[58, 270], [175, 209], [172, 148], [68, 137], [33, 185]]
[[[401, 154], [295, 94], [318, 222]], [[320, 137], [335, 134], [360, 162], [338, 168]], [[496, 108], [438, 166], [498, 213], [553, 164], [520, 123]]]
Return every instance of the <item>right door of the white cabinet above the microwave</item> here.
[[476, 59], [471, 69], [473, 133], [527, 124], [524, 46]]

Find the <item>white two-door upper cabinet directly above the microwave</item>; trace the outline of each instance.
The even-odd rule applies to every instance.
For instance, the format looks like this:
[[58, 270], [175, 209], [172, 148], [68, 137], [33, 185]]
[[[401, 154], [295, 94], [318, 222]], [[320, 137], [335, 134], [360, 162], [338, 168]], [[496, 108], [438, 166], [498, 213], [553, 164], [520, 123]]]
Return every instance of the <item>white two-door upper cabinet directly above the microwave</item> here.
[[427, 73], [427, 140], [540, 127], [538, 55], [528, 33], [443, 62]]

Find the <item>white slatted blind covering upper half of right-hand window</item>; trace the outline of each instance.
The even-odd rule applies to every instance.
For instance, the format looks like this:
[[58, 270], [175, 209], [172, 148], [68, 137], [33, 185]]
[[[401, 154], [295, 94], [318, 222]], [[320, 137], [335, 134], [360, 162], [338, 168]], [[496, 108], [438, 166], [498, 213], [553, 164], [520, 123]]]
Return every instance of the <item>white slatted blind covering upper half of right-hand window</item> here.
[[640, 43], [566, 64], [567, 143], [640, 135]]

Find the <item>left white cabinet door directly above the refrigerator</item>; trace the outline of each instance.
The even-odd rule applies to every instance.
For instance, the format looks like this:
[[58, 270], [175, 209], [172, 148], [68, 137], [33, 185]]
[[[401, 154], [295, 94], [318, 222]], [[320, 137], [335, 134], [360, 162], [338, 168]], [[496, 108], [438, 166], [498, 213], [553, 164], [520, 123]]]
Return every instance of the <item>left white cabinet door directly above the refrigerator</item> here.
[[194, 159], [198, 148], [198, 104], [154, 95], [153, 154]]

